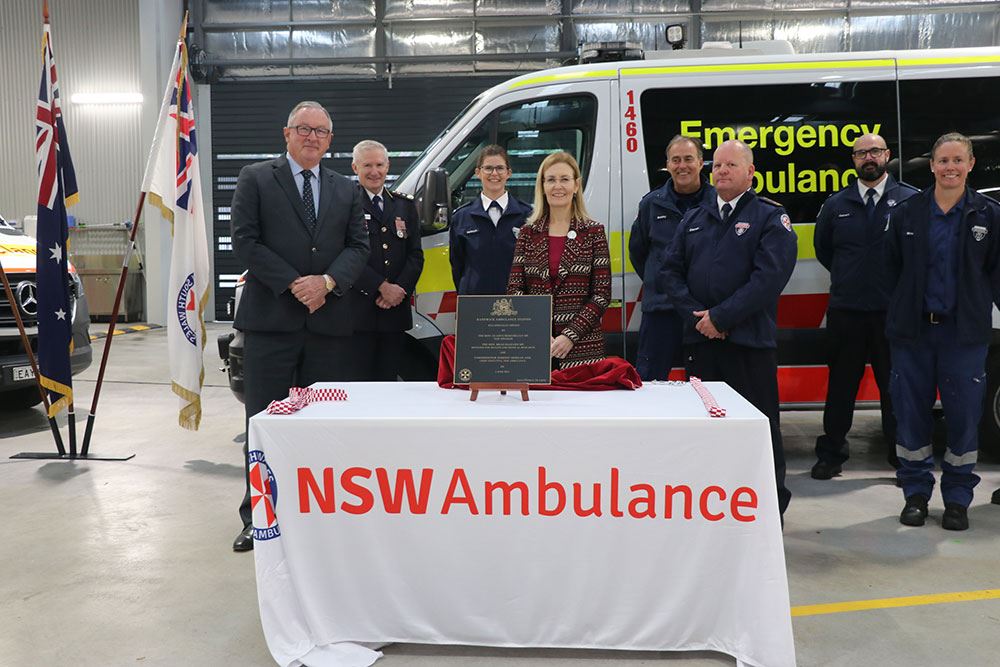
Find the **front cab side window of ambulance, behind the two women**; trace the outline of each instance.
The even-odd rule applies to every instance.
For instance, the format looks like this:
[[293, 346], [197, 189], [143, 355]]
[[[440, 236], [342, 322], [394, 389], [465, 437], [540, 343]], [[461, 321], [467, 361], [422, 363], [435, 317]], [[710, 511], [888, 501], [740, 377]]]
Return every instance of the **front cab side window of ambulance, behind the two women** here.
[[[511, 177], [507, 189], [521, 201], [531, 203], [535, 175], [545, 156], [564, 150], [572, 154], [584, 183], [594, 145], [597, 103], [589, 95], [529, 100], [504, 107], [476, 128], [444, 163], [452, 204], [457, 207], [476, 197], [481, 185], [476, 178], [476, 158], [490, 143], [507, 149]], [[495, 121], [495, 122], [494, 122]]]

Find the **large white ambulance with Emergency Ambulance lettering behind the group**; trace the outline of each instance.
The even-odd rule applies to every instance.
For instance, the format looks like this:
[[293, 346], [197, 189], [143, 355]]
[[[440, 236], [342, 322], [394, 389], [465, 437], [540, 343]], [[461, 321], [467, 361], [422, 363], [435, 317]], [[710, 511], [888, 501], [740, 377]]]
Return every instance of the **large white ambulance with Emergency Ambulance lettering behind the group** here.
[[[738, 138], [754, 150], [754, 188], [787, 209], [798, 262], [778, 308], [779, 387], [784, 407], [822, 405], [824, 316], [830, 279], [815, 258], [813, 228], [823, 201], [853, 182], [851, 147], [875, 132], [892, 150], [890, 170], [930, 185], [929, 150], [949, 131], [970, 136], [971, 185], [1000, 192], [1000, 49], [880, 51], [811, 55], [724, 55], [603, 62], [544, 70], [473, 100], [400, 176], [395, 189], [422, 202], [425, 264], [414, 300], [406, 379], [434, 377], [437, 347], [454, 331], [448, 264], [450, 212], [479, 192], [473, 172], [492, 143], [511, 156], [508, 188], [531, 202], [542, 159], [572, 153], [583, 170], [587, 208], [607, 227], [613, 303], [604, 316], [609, 354], [634, 359], [641, 280], [628, 260], [638, 202], [665, 180], [664, 149], [675, 134], [713, 150]], [[446, 194], [444, 190], [446, 189]], [[994, 311], [994, 325], [1000, 324]], [[988, 360], [984, 446], [1000, 445], [1000, 332]], [[877, 399], [870, 369], [859, 392]]]

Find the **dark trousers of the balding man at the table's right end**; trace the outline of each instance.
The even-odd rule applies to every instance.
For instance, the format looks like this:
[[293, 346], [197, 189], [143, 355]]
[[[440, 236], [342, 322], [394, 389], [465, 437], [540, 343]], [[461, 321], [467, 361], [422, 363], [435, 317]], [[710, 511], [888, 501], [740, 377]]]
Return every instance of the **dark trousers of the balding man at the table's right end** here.
[[785, 447], [781, 440], [778, 410], [778, 356], [770, 348], [747, 347], [726, 340], [710, 340], [684, 346], [688, 376], [721, 381], [764, 413], [771, 425], [774, 479], [778, 488], [778, 510], [782, 516], [792, 499], [785, 487]]

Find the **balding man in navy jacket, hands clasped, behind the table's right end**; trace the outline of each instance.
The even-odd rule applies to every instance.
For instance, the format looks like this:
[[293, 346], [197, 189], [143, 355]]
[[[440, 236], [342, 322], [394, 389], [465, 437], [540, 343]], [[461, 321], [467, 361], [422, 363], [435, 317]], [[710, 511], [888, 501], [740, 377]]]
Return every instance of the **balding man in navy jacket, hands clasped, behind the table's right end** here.
[[688, 375], [728, 383], [767, 416], [783, 516], [792, 494], [778, 414], [777, 312], [798, 248], [785, 210], [754, 194], [753, 174], [742, 141], [716, 149], [716, 201], [681, 220], [662, 278], [684, 317]]

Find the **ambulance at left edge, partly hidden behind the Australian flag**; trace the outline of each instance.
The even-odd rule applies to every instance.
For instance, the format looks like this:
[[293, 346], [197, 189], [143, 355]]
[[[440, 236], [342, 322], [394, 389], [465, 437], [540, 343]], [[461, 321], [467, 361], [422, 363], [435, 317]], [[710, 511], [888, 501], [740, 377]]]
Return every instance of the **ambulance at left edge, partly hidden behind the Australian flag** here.
[[[28, 340], [34, 349], [38, 336], [38, 289], [35, 285], [36, 241], [22, 234], [0, 217], [0, 264], [14, 294], [7, 298], [0, 284], [0, 411], [30, 408], [42, 402], [35, 384], [28, 355], [24, 352], [21, 332], [14, 310], [21, 316]], [[73, 322], [73, 351], [70, 366], [73, 375], [90, 366], [90, 312], [83, 283], [70, 264], [70, 317]]]

